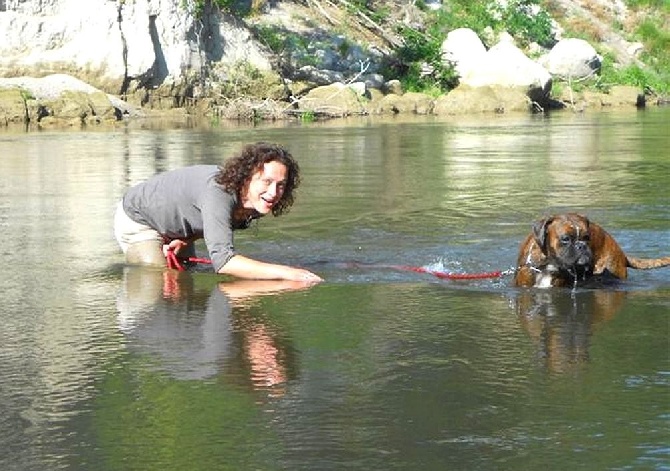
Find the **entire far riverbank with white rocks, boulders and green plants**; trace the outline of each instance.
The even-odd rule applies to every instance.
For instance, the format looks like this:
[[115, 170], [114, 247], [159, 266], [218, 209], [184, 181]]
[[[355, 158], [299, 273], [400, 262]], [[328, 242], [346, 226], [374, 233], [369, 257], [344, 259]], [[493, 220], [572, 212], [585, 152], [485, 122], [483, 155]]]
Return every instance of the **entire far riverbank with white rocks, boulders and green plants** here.
[[[625, 85], [633, 72], [646, 73], [641, 58], [654, 49], [634, 41], [645, 10], [623, 4], [610, 11], [563, 0], [549, 23], [539, 2], [521, 10], [487, 3], [497, 8], [491, 12], [458, 0], [397, 10], [380, 2], [369, 11], [343, 1], [261, 1], [247, 14], [219, 3], [185, 11], [146, 0], [106, 2], [93, 16], [91, 5], [75, 0], [8, 5], [0, 11], [0, 32], [11, 39], [0, 46], [0, 125], [161, 115], [253, 124], [667, 102], [644, 75]], [[485, 20], [473, 30], [460, 27], [478, 14]], [[581, 31], [580, 18], [592, 20], [590, 41], [570, 37]], [[468, 40], [459, 34], [450, 41], [457, 33]], [[570, 47], [553, 54], [564, 44]]]

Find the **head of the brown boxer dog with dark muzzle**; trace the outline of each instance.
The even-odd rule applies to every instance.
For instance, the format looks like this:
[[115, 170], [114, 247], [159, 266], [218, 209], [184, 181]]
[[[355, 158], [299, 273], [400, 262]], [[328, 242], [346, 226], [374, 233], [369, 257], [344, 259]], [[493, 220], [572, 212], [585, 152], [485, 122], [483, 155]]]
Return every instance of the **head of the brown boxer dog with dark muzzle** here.
[[549, 216], [533, 225], [533, 237], [547, 259], [575, 275], [593, 270], [589, 220], [579, 214]]

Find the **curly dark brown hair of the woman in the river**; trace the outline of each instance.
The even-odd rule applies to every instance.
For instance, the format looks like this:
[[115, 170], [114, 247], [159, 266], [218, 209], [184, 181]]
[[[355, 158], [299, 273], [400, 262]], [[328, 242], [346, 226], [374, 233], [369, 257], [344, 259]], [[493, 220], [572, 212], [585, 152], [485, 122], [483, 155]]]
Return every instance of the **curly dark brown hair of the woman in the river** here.
[[284, 194], [272, 207], [272, 214], [279, 216], [289, 211], [295, 200], [293, 190], [300, 185], [300, 167], [283, 147], [269, 142], [247, 144], [239, 154], [231, 157], [219, 167], [215, 181], [226, 191], [236, 194], [241, 199], [249, 186], [251, 177], [259, 170], [263, 170], [263, 166], [269, 162], [279, 162], [287, 169]]

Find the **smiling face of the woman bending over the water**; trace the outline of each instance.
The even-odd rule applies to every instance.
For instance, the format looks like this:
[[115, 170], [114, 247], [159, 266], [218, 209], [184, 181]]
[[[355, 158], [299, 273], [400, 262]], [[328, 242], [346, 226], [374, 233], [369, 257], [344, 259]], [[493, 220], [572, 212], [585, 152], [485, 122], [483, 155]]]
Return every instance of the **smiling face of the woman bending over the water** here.
[[242, 206], [255, 209], [263, 215], [268, 214], [284, 195], [287, 177], [288, 169], [284, 164], [277, 161], [263, 164], [263, 168], [251, 176], [242, 196]]

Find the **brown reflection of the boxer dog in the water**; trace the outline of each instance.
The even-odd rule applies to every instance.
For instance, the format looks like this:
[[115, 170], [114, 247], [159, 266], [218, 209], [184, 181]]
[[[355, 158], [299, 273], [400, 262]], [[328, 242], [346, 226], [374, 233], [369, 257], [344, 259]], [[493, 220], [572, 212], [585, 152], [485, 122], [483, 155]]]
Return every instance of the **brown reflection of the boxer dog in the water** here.
[[591, 335], [616, 315], [626, 295], [604, 289], [525, 290], [513, 304], [547, 369], [562, 373], [589, 360]]

